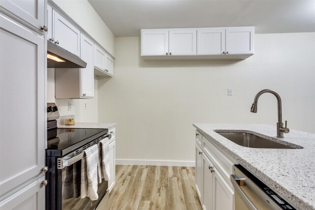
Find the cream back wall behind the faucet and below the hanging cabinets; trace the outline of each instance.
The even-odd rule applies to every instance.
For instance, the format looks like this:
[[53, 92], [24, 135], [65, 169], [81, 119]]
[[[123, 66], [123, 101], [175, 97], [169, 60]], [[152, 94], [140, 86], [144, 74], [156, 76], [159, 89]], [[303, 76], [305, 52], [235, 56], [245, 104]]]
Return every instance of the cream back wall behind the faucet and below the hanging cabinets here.
[[255, 34], [247, 60], [145, 61], [139, 37], [118, 37], [115, 76], [98, 79], [98, 120], [118, 122], [117, 159], [192, 161], [193, 122], [276, 125], [272, 94], [250, 112], [259, 90], [274, 89], [288, 127], [315, 133], [314, 43], [315, 33]]

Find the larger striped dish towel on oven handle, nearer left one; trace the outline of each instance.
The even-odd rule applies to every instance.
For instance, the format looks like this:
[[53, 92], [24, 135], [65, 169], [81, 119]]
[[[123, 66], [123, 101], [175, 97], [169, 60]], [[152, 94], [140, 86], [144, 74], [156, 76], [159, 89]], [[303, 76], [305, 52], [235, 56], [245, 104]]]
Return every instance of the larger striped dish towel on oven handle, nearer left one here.
[[97, 145], [83, 151], [81, 161], [81, 198], [89, 197], [91, 201], [98, 199], [97, 195]]

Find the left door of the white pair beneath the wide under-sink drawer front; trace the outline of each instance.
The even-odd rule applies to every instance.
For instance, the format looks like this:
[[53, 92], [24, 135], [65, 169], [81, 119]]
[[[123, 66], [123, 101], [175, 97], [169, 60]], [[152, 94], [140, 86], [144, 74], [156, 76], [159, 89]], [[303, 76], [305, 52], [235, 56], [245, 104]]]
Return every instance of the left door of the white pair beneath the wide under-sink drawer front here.
[[202, 153], [202, 207], [203, 210], [212, 210], [212, 196], [213, 196], [213, 170], [214, 165], [211, 161]]

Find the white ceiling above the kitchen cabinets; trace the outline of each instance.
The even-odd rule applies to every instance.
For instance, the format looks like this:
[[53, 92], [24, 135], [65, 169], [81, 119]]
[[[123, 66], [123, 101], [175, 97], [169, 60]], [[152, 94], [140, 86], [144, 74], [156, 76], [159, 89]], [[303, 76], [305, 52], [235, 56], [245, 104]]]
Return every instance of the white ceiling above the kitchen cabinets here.
[[89, 0], [115, 36], [141, 29], [254, 26], [255, 33], [315, 32], [315, 0]]

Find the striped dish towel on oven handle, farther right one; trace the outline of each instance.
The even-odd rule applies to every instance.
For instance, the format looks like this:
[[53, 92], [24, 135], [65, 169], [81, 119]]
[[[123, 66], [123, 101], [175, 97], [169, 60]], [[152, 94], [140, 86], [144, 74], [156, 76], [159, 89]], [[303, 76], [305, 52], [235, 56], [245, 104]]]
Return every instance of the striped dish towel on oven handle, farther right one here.
[[110, 171], [109, 171], [109, 139], [105, 138], [100, 140], [99, 148], [101, 148], [100, 160], [101, 162], [100, 168], [98, 169], [98, 174], [101, 173], [101, 177], [104, 178], [105, 181], [110, 179]]

